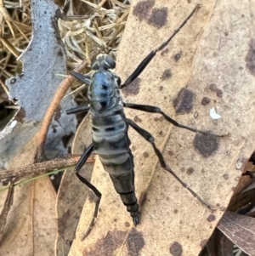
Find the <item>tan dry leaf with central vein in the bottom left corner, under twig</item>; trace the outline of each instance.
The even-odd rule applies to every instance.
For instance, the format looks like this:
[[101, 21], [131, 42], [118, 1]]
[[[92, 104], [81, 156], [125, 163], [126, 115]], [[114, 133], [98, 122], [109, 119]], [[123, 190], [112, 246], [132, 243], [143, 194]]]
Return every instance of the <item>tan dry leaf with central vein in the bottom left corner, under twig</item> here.
[[[10, 168], [33, 162], [37, 140], [31, 139]], [[1, 199], [3, 195], [1, 194]], [[48, 178], [16, 186], [0, 255], [53, 255], [57, 235], [54, 188]]]

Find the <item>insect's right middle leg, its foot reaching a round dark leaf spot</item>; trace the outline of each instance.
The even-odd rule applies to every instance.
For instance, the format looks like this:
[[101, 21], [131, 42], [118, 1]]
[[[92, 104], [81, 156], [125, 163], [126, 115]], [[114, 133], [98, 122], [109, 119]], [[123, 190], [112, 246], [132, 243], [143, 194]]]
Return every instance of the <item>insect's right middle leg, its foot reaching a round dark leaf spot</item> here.
[[201, 133], [201, 134], [212, 135], [212, 136], [216, 136], [216, 137], [224, 137], [225, 136], [225, 135], [216, 135], [216, 134], [207, 133], [207, 132], [198, 130], [196, 128], [191, 128], [189, 126], [185, 126], [184, 124], [178, 123], [172, 117], [167, 116], [167, 114], [165, 114], [163, 111], [161, 111], [161, 109], [159, 107], [154, 106], [154, 105], [139, 105], [139, 104], [135, 104], [135, 103], [123, 102], [123, 106], [134, 109], [134, 110], [138, 110], [138, 111], [159, 113], [167, 120], [167, 122], [171, 122], [174, 126], [177, 126], [178, 128], [184, 128], [184, 129], [187, 129], [194, 133]]

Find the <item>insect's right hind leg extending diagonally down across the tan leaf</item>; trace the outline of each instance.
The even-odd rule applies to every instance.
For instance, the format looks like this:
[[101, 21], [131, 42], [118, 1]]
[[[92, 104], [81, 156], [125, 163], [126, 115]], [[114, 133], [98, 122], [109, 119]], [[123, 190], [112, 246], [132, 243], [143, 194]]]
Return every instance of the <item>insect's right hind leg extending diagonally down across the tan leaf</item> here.
[[185, 184], [181, 179], [178, 178], [178, 176], [176, 174], [174, 174], [173, 170], [169, 167], [167, 167], [167, 164], [165, 162], [164, 157], [161, 154], [161, 151], [159, 151], [159, 149], [156, 147], [155, 143], [154, 143], [154, 138], [153, 136], [147, 132], [146, 130], [144, 130], [143, 128], [140, 128], [135, 122], [133, 122], [130, 119], [127, 119], [127, 123], [134, 129], [136, 130], [144, 139], [146, 139], [148, 142], [150, 142], [150, 144], [153, 146], [153, 150], [156, 153], [156, 156], [158, 157], [158, 160], [161, 164], [161, 168], [164, 168], [165, 170], [167, 170], [167, 172], [169, 172], [170, 174], [173, 174], [173, 177], [175, 179], [178, 180], [178, 182], [188, 191], [190, 191], [190, 193], [195, 196], [195, 198], [198, 199], [199, 202], [201, 202], [201, 204], [207, 206], [207, 208], [211, 209], [212, 208], [208, 205], [207, 202], [205, 202], [200, 196], [198, 196], [195, 191], [192, 191], [192, 189], [189, 187], [189, 185]]

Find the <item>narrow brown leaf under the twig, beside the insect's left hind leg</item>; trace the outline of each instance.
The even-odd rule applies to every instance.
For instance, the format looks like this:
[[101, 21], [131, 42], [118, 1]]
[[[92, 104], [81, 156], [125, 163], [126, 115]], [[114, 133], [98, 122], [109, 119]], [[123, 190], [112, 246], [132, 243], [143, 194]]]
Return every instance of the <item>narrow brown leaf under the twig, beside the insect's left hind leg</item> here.
[[[82, 154], [92, 143], [91, 125], [88, 116], [82, 120], [73, 141], [72, 153]], [[94, 164], [83, 166], [80, 174], [88, 180], [91, 179]], [[57, 213], [59, 223], [59, 236], [57, 239], [56, 255], [67, 255], [71, 242], [75, 238], [78, 221], [82, 207], [88, 196], [88, 187], [77, 178], [73, 171], [65, 171], [59, 186], [57, 198]]]

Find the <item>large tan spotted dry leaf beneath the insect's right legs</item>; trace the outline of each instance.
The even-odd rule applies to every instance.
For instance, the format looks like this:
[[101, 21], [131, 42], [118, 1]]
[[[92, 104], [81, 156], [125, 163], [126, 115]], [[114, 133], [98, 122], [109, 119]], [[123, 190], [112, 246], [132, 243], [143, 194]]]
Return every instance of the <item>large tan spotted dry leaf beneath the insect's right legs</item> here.
[[[133, 7], [137, 3], [133, 1]], [[195, 7], [184, 0], [144, 3], [147, 9], [143, 5], [136, 12], [131, 9], [127, 20], [116, 65], [122, 79]], [[252, 14], [254, 6], [248, 2], [204, 1], [166, 50], [151, 61], [139, 82], [127, 88], [124, 97], [128, 102], [157, 105], [191, 127], [229, 133], [218, 141], [207, 140], [174, 128], [160, 115], [126, 111], [127, 117], [155, 136], [167, 164], [215, 211], [201, 205], [167, 174], [157, 164], [150, 145], [130, 128], [136, 192], [139, 198], [146, 194], [141, 222], [133, 228], [109, 175], [96, 161], [92, 183], [103, 194], [98, 219], [81, 242], [94, 210], [94, 203], [86, 202], [69, 255], [199, 254], [227, 208], [241, 169], [254, 149]], [[222, 118], [210, 117], [212, 107]], [[183, 115], [176, 115], [182, 111]]]

